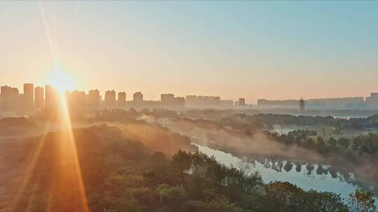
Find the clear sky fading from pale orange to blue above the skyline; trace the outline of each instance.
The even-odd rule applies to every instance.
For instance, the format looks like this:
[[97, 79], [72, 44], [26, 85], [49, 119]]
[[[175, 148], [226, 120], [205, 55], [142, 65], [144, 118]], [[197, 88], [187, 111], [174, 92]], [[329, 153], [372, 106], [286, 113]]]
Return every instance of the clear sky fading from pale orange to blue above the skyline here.
[[0, 1], [0, 84], [127, 100], [369, 96], [377, 22], [378, 1]]

